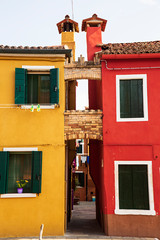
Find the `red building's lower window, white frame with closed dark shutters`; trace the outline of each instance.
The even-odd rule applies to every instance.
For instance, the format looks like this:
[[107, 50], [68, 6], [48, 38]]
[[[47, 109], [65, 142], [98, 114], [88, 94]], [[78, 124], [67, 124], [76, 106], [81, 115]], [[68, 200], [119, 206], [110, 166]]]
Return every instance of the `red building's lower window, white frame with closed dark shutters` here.
[[151, 162], [115, 162], [118, 214], [154, 214]]

